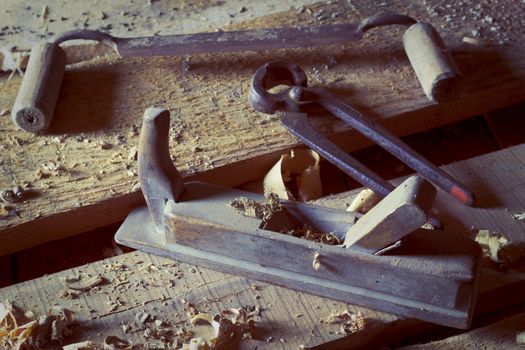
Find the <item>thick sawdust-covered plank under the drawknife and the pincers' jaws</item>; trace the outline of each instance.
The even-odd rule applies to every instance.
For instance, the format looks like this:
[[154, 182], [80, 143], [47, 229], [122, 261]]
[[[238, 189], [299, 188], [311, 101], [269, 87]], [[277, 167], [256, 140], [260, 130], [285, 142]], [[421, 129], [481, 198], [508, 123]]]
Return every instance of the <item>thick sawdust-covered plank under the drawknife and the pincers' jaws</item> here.
[[[16, 130], [8, 116], [0, 117], [0, 189], [30, 184], [34, 194], [14, 205], [16, 215], [0, 219], [0, 254], [122, 220], [141, 203], [133, 155], [141, 116], [152, 105], [172, 112], [171, 154], [184, 176], [228, 186], [260, 178], [284, 150], [297, 145], [276, 117], [258, 114], [247, 103], [253, 73], [270, 59], [298, 63], [312, 84], [342, 94], [399, 135], [523, 100], [525, 19], [517, 15], [523, 5], [447, 6], [441, 1], [389, 5], [432, 22], [452, 49], [466, 93], [447, 105], [426, 99], [403, 53], [401, 30], [394, 28], [371, 32], [348, 47], [189, 61], [104, 57], [69, 66], [51, 134], [30, 135]], [[269, 16], [254, 13], [261, 17], [225, 29], [353, 21], [381, 10], [384, 6], [357, 2], [319, 3]], [[493, 46], [462, 42], [472, 31]], [[11, 108], [19, 85], [18, 77], [3, 81], [0, 109]], [[367, 144], [330, 116], [314, 117], [313, 123], [347, 150]]]

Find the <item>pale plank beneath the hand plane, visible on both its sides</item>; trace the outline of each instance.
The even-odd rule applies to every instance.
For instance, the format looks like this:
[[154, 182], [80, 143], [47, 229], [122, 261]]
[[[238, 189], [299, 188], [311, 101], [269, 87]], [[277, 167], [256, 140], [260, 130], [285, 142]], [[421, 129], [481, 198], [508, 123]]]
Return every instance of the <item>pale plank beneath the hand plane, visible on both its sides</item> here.
[[[449, 217], [445, 225], [464, 219], [465, 225], [474, 223], [479, 228], [504, 232], [514, 241], [523, 241], [525, 223], [515, 220], [512, 214], [525, 208], [525, 188], [523, 181], [518, 181], [525, 175], [524, 154], [525, 145], [521, 145], [445, 167], [454, 174], [470, 174], [472, 184], [481, 183], [480, 179], [484, 179], [483, 188], [486, 192], [481, 194], [482, 203], [493, 202], [495, 198], [498, 198], [500, 203], [485, 209], [467, 209], [468, 213], [463, 213], [462, 216], [452, 219]], [[345, 208], [354, 195], [355, 191], [327, 197], [318, 203], [328, 207]], [[444, 196], [443, 193], [438, 194], [441, 203], [453, 203]], [[451, 206], [453, 207], [454, 205]], [[122, 265], [126, 267], [121, 267]], [[81, 294], [77, 299], [59, 298], [60, 291], [65, 289], [62, 279], [78, 274], [99, 274], [105, 277], [107, 282]], [[482, 288], [490, 290], [516, 280], [523, 282], [523, 275], [492, 272], [483, 276]], [[252, 284], [256, 287], [253, 288]], [[522, 298], [521, 294], [519, 298]], [[293, 292], [243, 277], [174, 263], [140, 252], [124, 254], [0, 289], [0, 300], [5, 299], [10, 299], [16, 305], [31, 309], [37, 314], [45, 313], [50, 306], [56, 304], [75, 311], [77, 323], [68, 342], [101, 340], [107, 335], [126, 337], [135, 343], [144, 342], [144, 329], [124, 334], [121, 325], [133, 325], [135, 314], [141, 311], [147, 311], [163, 321], [186, 321], [183, 299], [194, 303], [199, 309], [210, 312], [218, 312], [225, 307], [260, 305], [264, 311], [257, 327], [260, 329], [259, 339], [262, 341], [243, 341], [239, 349], [252, 349], [254, 346], [258, 346], [259, 349], [293, 349], [299, 345], [330, 349], [371, 348], [371, 344], [388, 345], [399, 340], [401, 334], [413, 336], [429, 328], [428, 324], [419, 321]], [[122, 305], [110, 311], [116, 299], [120, 300]], [[505, 301], [516, 302], [508, 299]], [[320, 318], [327, 317], [332, 311], [343, 311], [346, 308], [363, 313], [368, 325], [363, 332], [343, 336], [337, 334], [340, 325], [319, 322]], [[483, 309], [483, 306], [481, 308]], [[173, 328], [178, 329], [183, 325], [184, 323], [181, 323]], [[265, 340], [270, 336], [273, 340], [267, 343]], [[281, 338], [285, 343], [280, 342]]]

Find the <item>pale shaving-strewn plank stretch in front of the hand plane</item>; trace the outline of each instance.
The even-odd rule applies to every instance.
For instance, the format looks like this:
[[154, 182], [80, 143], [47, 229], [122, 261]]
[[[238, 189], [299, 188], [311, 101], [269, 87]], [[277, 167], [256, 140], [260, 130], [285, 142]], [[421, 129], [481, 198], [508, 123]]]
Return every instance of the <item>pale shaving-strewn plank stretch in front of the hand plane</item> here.
[[[75, 299], [60, 297], [61, 291], [66, 289], [65, 277], [81, 275], [86, 278], [88, 274], [100, 275], [107, 282]], [[141, 311], [169, 322], [173, 331], [182, 327], [192, 330], [194, 327], [184, 311], [186, 301], [199, 311], [210, 313], [228, 307], [260, 306], [257, 339], [243, 340], [238, 349], [255, 346], [259, 349], [298, 349], [300, 345], [318, 345], [340, 336], [337, 334], [340, 325], [320, 323], [320, 318], [326, 318], [332, 311], [358, 310], [346, 303], [141, 252], [3, 288], [0, 296], [1, 300], [9, 299], [38, 315], [45, 314], [53, 305], [73, 311], [75, 326], [67, 343], [87, 339], [101, 341], [108, 335], [117, 335], [134, 344], [143, 344], [148, 341], [144, 329], [151, 328], [152, 324], [137, 325], [135, 314]], [[115, 300], [122, 305], [113, 308], [117, 304], [111, 301]], [[368, 309], [359, 310], [374, 319], [391, 321], [397, 318]], [[125, 334], [122, 324], [131, 326], [132, 331]], [[270, 336], [273, 340], [267, 342]]]

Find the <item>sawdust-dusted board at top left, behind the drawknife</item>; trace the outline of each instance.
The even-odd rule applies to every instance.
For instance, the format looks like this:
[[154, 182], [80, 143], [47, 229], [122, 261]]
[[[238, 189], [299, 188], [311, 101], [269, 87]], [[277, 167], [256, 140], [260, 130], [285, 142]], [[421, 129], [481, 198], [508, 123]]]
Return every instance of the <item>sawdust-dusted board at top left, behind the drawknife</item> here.
[[[295, 4], [313, 2], [300, 0]], [[256, 13], [268, 15], [289, 8], [289, 4], [278, 0], [4, 0], [0, 15], [0, 70], [24, 68], [34, 44], [74, 28], [102, 30], [121, 37], [193, 33], [243, 22]]]

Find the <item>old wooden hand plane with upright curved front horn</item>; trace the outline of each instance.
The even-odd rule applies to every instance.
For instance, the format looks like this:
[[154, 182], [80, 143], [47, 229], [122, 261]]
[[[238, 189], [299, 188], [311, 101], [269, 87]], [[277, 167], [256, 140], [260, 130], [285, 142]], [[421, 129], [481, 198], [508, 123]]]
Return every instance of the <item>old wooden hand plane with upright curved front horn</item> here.
[[[357, 223], [365, 220], [369, 224], [361, 225], [358, 232], [352, 230], [354, 214], [294, 201], [281, 202], [287, 219], [275, 215], [263, 222], [229, 205], [238, 197], [264, 202], [262, 195], [184, 182], [170, 160], [168, 131], [169, 112], [148, 109], [138, 159], [149, 210], [132, 211], [116, 234], [117, 242], [386, 312], [451, 327], [469, 326], [480, 248], [463, 235], [417, 229], [426, 220], [425, 211], [434, 194], [428, 182], [407, 180], [380, 202], [388, 213], [376, 218], [379, 225], [367, 213]], [[405, 215], [410, 217], [401, 229], [389, 226]], [[368, 234], [344, 248], [275, 232], [289, 230], [290, 223], [297, 222], [331, 232], [340, 241], [345, 234]], [[383, 222], [386, 224], [378, 230]], [[370, 242], [375, 236], [382, 243], [372, 244], [374, 250], [405, 237], [388, 255], [374, 255]]]

